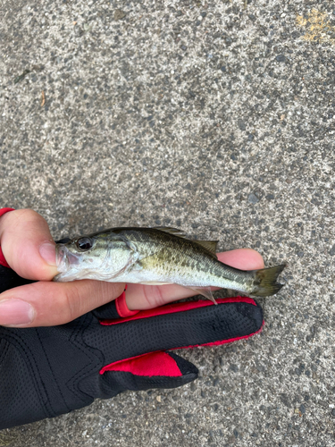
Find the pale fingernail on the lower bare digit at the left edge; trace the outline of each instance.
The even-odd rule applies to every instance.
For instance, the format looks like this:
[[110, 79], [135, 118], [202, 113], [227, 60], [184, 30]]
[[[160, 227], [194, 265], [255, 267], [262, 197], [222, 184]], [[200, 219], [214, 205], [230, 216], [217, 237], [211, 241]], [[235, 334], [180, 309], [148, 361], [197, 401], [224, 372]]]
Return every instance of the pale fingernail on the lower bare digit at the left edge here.
[[3, 299], [0, 301], [0, 325], [29, 325], [35, 316], [35, 309], [22, 299]]

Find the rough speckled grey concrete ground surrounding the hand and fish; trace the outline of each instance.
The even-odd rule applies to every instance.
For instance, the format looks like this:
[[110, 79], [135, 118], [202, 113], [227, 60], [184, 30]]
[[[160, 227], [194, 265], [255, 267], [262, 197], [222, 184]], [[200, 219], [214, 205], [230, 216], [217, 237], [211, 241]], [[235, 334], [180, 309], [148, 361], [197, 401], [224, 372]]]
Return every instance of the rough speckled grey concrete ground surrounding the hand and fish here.
[[334, 445], [334, 3], [2, 0], [0, 33], [1, 206], [288, 263], [263, 333], [183, 353], [196, 383], [0, 445]]

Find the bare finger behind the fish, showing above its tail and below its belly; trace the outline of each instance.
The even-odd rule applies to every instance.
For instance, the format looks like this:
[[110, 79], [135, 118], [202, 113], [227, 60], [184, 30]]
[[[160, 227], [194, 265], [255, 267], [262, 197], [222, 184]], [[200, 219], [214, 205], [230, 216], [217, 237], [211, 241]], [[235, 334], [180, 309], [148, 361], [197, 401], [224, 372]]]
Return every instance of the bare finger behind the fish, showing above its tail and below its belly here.
[[[264, 268], [264, 260], [254, 249], [235, 249], [217, 253], [218, 259], [240, 270], [258, 270]], [[212, 288], [218, 290], [217, 288]], [[163, 304], [195, 295], [194, 291], [177, 284], [143, 285], [128, 284], [126, 292], [127, 306], [130, 310], [156, 308]]]

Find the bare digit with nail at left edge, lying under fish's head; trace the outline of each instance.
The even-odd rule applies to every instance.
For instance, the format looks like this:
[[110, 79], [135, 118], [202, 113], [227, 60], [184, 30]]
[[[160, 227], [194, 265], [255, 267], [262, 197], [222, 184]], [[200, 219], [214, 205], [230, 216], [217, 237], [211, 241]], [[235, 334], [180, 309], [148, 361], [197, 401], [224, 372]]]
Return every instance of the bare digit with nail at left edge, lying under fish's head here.
[[81, 280], [39, 282], [0, 294], [0, 325], [63, 325], [121, 295], [122, 283]]

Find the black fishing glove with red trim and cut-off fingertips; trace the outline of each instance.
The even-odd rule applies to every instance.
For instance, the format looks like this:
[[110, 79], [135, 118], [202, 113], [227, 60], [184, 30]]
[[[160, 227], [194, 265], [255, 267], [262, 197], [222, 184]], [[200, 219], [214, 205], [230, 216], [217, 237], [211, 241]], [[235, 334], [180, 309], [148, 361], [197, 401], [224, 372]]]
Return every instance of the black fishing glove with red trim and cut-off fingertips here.
[[[0, 266], [0, 291], [24, 283], [31, 282]], [[0, 326], [0, 428], [55, 417], [125, 390], [195, 380], [197, 367], [166, 350], [232, 342], [263, 325], [254, 299], [217, 302], [170, 304], [122, 318], [123, 294], [67, 325]]]

